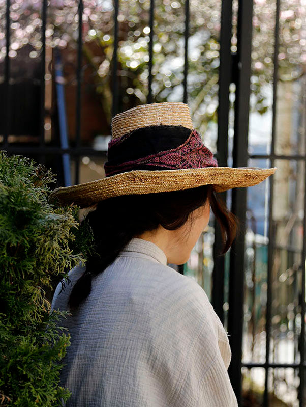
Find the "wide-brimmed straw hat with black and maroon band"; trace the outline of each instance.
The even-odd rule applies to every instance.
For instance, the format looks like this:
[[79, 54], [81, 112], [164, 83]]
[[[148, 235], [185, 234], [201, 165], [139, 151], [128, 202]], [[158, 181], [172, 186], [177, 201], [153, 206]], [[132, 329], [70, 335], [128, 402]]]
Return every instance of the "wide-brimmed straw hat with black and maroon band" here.
[[185, 103], [152, 103], [112, 119], [106, 178], [57, 188], [51, 199], [82, 208], [120, 195], [177, 191], [211, 184], [216, 192], [259, 184], [276, 168], [218, 167], [193, 129]]

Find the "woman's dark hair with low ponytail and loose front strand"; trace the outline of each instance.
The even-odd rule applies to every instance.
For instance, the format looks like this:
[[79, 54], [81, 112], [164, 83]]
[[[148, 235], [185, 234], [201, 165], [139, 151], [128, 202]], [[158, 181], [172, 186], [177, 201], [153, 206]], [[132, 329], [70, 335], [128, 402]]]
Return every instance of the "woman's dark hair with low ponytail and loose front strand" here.
[[99, 202], [84, 221], [89, 222], [93, 231], [97, 254], [87, 259], [86, 270], [71, 291], [70, 309], [77, 308], [89, 295], [92, 276], [102, 273], [133, 237], [155, 230], [159, 225], [168, 230], [178, 229], [207, 199], [221, 226], [223, 254], [235, 238], [236, 218], [217, 198], [211, 185], [184, 191], [125, 195]]

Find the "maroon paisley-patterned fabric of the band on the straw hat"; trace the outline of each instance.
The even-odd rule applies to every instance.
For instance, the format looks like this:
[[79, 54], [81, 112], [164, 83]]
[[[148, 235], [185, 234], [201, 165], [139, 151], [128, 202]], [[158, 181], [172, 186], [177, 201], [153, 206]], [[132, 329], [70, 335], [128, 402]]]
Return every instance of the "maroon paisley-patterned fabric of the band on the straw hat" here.
[[120, 164], [110, 162], [104, 164], [107, 177], [139, 169], [182, 170], [205, 167], [218, 167], [218, 164], [212, 152], [204, 146], [201, 135], [196, 130], [192, 130], [189, 138], [176, 148]]

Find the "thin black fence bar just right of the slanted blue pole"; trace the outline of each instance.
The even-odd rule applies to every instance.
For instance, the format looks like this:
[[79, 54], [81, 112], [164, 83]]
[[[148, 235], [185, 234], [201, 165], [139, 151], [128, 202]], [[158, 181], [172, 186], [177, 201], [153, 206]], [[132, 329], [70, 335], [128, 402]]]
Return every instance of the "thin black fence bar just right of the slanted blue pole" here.
[[[78, 149], [81, 145], [81, 90], [82, 90], [82, 51], [83, 51], [83, 0], [79, 0], [79, 35], [78, 35], [78, 56], [77, 56], [77, 94], [76, 94], [76, 122], [75, 122], [75, 146]], [[76, 155], [75, 161], [75, 183], [79, 183], [80, 156]]]

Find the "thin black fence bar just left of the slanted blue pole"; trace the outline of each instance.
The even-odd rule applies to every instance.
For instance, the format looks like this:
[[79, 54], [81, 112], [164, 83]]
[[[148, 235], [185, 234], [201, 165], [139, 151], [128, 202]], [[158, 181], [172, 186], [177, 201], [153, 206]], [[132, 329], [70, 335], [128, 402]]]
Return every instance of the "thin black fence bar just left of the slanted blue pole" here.
[[[45, 71], [46, 71], [46, 20], [47, 20], [47, 0], [42, 2], [42, 50], [41, 50], [41, 71], [40, 71], [40, 138], [39, 145], [45, 145]], [[39, 161], [45, 164], [46, 155], [40, 155]]]

